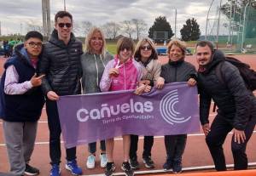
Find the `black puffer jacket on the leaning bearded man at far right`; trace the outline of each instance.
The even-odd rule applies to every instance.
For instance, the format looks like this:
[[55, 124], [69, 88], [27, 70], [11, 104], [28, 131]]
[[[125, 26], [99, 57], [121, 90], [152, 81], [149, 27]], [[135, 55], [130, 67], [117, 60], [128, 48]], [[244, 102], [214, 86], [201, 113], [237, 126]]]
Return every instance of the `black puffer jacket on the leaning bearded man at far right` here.
[[[221, 63], [224, 62], [224, 63]], [[216, 66], [221, 66], [224, 83], [216, 76]], [[224, 54], [215, 51], [212, 61], [198, 73], [200, 92], [201, 124], [208, 123], [211, 100], [218, 105], [218, 114], [234, 128], [243, 130], [249, 121], [251, 111], [255, 109], [255, 97], [247, 90], [245, 83], [236, 66], [224, 61]]]

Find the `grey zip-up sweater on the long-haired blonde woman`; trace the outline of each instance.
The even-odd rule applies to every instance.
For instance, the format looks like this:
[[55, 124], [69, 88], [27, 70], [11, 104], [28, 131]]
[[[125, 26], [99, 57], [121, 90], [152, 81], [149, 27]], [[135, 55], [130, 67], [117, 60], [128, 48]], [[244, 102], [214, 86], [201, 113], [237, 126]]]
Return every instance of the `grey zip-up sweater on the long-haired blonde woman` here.
[[99, 84], [102, 79], [102, 74], [105, 69], [105, 65], [109, 60], [113, 60], [113, 55], [106, 54], [103, 58], [99, 54], [85, 53], [81, 57], [81, 64], [83, 70], [82, 88], [83, 94], [99, 93], [101, 89]]

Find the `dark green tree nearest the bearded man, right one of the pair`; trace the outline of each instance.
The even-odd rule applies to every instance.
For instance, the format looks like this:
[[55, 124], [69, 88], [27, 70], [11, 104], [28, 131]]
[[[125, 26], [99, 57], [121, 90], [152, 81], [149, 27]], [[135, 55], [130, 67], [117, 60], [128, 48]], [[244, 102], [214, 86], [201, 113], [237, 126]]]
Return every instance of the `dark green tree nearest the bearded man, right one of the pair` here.
[[183, 41], [196, 41], [201, 35], [199, 25], [194, 18], [186, 20], [186, 24], [180, 30]]

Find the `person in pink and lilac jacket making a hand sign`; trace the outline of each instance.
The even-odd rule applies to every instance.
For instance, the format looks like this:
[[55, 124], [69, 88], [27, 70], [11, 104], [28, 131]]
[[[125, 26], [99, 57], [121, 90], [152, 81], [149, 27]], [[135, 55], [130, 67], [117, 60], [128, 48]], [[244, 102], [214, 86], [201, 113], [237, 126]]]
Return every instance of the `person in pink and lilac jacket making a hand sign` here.
[[[137, 87], [137, 82], [142, 78], [142, 67], [133, 59], [134, 43], [131, 38], [122, 37], [117, 43], [117, 55], [108, 62], [102, 76], [100, 87], [102, 91], [129, 90]], [[133, 170], [129, 163], [130, 135], [123, 137], [124, 162], [122, 170], [125, 175], [132, 176]], [[113, 163], [113, 139], [106, 140], [108, 163], [105, 175], [112, 175], [115, 170]]]

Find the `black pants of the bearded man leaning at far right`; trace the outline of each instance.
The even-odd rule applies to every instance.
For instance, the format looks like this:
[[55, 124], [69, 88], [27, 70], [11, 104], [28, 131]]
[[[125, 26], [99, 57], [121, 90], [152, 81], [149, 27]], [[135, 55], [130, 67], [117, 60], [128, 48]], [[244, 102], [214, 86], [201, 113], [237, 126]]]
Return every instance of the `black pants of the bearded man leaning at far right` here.
[[[245, 128], [246, 141], [238, 144], [234, 141], [234, 136], [231, 141], [231, 150], [234, 157], [234, 169], [247, 169], [247, 154], [245, 153], [247, 142], [251, 138], [255, 127], [255, 120], [247, 122]], [[217, 171], [226, 170], [226, 162], [222, 145], [227, 134], [233, 129], [229, 122], [224, 120], [223, 116], [217, 115], [212, 122], [211, 131], [207, 134], [207, 145], [211, 152], [213, 162]]]

